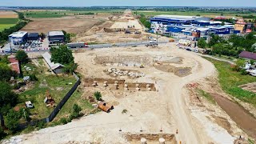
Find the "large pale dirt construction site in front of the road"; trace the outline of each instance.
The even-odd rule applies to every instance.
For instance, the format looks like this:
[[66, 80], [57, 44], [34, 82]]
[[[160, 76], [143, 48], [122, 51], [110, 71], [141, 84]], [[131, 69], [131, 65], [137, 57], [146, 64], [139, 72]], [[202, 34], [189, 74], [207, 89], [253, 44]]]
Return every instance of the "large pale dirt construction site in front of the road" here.
[[[85, 90], [84, 98], [91, 96], [94, 91], [101, 91], [102, 98], [113, 104], [114, 110], [110, 113], [91, 114], [64, 126], [16, 136], [10, 138], [8, 142], [138, 143], [143, 137], [148, 138], [149, 143], [157, 143], [158, 138], [163, 137], [162, 134], [174, 134], [168, 142], [227, 144], [233, 143], [239, 135], [246, 136], [218, 105], [197, 98], [193, 90], [187, 88], [188, 83], [202, 82], [206, 85], [199, 87], [210, 89], [211, 85], [206, 83], [206, 79], [217, 78], [213, 64], [197, 54], [180, 50], [174, 44], [168, 43], [160, 45], [159, 48], [140, 46], [86, 50], [74, 53], [74, 58], [78, 63], [78, 72], [83, 77], [81, 86]], [[99, 62], [100, 60], [105, 61], [105, 64]], [[144, 68], [136, 65], [141, 62], [145, 63]], [[154, 66], [158, 62], [167, 62], [174, 67], [190, 68], [190, 74], [178, 76], [174, 71], [158, 70]], [[131, 65], [116, 65], [116, 63]], [[113, 78], [104, 72], [110, 67], [136, 70], [146, 76], [136, 79]], [[98, 78], [105, 80], [109, 78], [112, 79], [108, 80], [109, 82], [154, 83], [156, 91], [114, 90], [102, 86], [102, 83], [96, 87], [88, 87], [88, 83], [91, 85], [92, 81], [86, 81], [86, 78], [98, 82]], [[123, 112], [124, 110], [126, 113]], [[176, 134], [177, 130], [178, 134]], [[152, 136], [150, 137], [149, 134]]]

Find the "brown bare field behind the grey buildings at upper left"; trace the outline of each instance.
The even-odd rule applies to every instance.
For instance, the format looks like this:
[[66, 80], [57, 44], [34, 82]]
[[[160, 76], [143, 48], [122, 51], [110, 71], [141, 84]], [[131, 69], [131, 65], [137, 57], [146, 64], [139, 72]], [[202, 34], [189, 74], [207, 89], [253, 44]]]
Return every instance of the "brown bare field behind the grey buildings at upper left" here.
[[98, 14], [93, 16], [70, 16], [63, 18], [30, 18], [33, 22], [22, 28], [28, 32], [42, 32], [47, 34], [52, 30], [66, 30], [68, 33], [85, 33], [93, 26], [101, 25], [110, 16]]

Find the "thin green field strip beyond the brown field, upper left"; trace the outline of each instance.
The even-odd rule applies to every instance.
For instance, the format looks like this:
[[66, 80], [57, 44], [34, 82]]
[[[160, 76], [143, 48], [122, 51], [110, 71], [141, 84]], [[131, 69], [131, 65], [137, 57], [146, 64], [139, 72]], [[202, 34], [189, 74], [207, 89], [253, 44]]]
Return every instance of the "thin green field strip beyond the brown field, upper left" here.
[[103, 13], [122, 13], [123, 10], [54, 10], [54, 11], [26, 11], [26, 18], [62, 18], [74, 14], [86, 15], [88, 13], [103, 14]]

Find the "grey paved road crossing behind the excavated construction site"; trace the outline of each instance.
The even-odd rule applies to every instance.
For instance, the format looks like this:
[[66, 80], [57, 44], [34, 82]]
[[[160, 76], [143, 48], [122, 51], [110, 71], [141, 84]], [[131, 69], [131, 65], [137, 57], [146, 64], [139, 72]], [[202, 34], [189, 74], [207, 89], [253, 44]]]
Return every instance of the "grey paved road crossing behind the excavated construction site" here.
[[[167, 43], [168, 41], [160, 41], [158, 44]], [[89, 48], [93, 49], [101, 49], [101, 48], [111, 48], [111, 47], [126, 47], [126, 46], [142, 46], [150, 44], [150, 41], [143, 41], [143, 42], [118, 42], [118, 43], [106, 43], [106, 44], [95, 44], [95, 45], [89, 45]], [[78, 50], [82, 48], [74, 48], [71, 50]], [[26, 53], [35, 53], [35, 52], [46, 52], [50, 49], [47, 48], [34, 48], [34, 49], [24, 49]], [[6, 54], [0, 51], [0, 54]]]

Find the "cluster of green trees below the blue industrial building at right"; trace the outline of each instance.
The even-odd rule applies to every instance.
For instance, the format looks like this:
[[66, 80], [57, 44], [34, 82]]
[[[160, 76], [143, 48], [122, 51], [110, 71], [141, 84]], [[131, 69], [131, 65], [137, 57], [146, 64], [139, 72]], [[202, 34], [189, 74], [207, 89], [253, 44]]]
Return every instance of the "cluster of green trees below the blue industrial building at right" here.
[[211, 48], [209, 54], [218, 54], [226, 56], [238, 57], [243, 50], [255, 52], [254, 43], [256, 43], [255, 32], [247, 34], [246, 36], [231, 35], [230, 38], [225, 39], [219, 37], [217, 34], [211, 34], [209, 42], [205, 38], [198, 40], [198, 47]]

